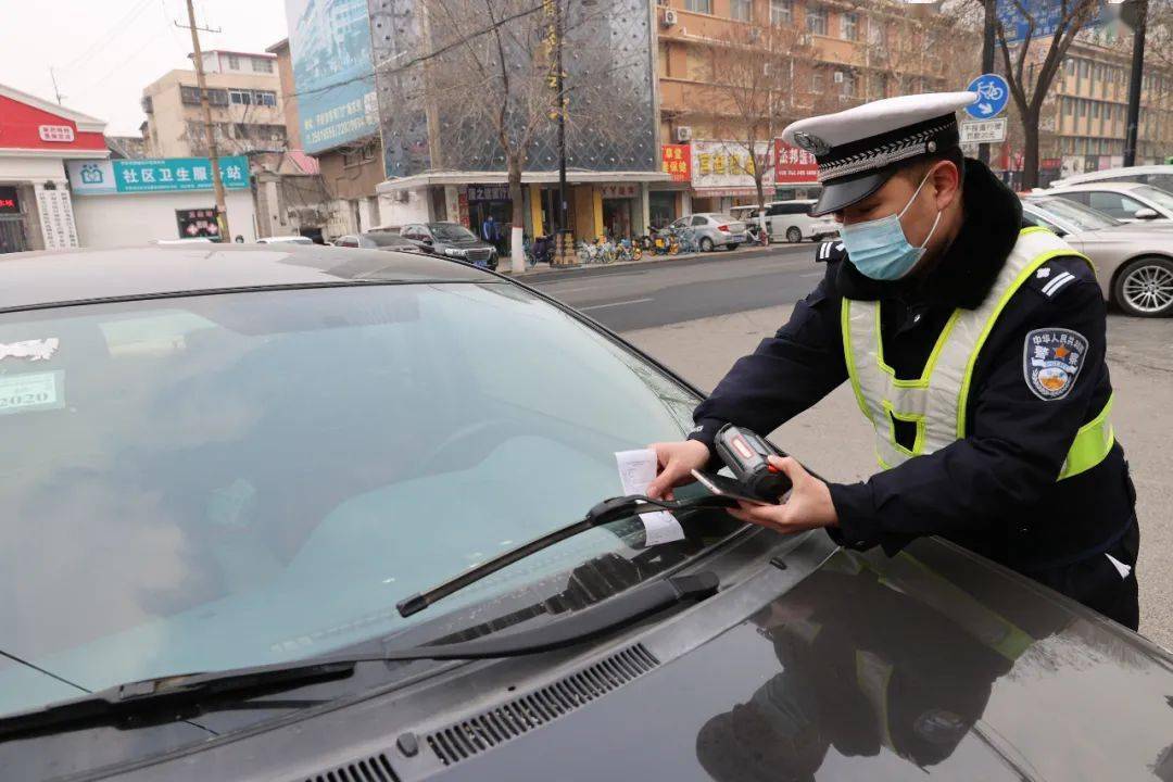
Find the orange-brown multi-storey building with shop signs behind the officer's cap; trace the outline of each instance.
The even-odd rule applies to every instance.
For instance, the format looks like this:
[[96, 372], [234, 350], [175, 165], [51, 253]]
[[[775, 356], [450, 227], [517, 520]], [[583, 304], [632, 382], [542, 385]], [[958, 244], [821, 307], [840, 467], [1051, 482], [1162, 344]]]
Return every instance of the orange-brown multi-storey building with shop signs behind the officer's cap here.
[[[666, 0], [657, 21], [665, 163], [679, 159], [672, 145], [691, 147], [687, 182], [653, 191], [657, 222], [755, 203], [746, 171], [753, 161], [765, 169], [767, 198], [813, 196], [813, 166], [778, 159], [793, 154], [773, 142], [788, 123], [881, 97], [962, 89], [978, 62], [979, 38], [958, 35], [960, 20], [895, 0]], [[768, 103], [738, 94], [754, 79]]]

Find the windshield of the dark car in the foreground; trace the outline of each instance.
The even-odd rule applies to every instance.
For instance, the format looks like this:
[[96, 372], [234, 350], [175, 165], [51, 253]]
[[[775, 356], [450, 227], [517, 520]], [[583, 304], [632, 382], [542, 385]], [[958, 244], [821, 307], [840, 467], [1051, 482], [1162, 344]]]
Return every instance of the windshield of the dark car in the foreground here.
[[[501, 284], [7, 313], [0, 346], [0, 650], [88, 689], [406, 627], [396, 600], [622, 494], [615, 451], [682, 438], [697, 401]], [[642, 535], [591, 530], [422, 618]], [[75, 694], [0, 667], [0, 713]]]

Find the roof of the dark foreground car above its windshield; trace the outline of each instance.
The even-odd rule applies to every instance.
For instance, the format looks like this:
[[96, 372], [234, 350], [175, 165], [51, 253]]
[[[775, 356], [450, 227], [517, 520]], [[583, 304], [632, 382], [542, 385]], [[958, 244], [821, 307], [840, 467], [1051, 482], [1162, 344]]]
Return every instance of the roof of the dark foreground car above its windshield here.
[[347, 281], [486, 283], [434, 256], [299, 244], [212, 244], [16, 252], [0, 256], [0, 312], [128, 299]]

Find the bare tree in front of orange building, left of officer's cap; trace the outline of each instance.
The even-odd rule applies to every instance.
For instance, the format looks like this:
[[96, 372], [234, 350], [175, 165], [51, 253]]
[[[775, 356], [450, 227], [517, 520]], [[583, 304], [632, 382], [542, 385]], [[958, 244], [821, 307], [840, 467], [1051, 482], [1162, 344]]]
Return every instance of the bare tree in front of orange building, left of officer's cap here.
[[[795, 84], [809, 83], [813, 48], [793, 25], [772, 23], [768, 14], [731, 25], [714, 40], [713, 86], [706, 101], [718, 132], [731, 140], [739, 172], [753, 177], [758, 205], [766, 204], [764, 183], [774, 168], [774, 138], [799, 118]], [[759, 212], [762, 232], [765, 213]]]

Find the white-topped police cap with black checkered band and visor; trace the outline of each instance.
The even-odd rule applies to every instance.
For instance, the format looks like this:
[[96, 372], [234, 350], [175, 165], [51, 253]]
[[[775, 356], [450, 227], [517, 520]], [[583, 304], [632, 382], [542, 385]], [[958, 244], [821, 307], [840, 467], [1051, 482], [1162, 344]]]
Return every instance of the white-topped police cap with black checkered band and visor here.
[[811, 152], [822, 195], [811, 211], [827, 215], [867, 198], [899, 163], [957, 145], [957, 109], [976, 93], [930, 93], [873, 101], [791, 123], [782, 141]]

